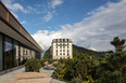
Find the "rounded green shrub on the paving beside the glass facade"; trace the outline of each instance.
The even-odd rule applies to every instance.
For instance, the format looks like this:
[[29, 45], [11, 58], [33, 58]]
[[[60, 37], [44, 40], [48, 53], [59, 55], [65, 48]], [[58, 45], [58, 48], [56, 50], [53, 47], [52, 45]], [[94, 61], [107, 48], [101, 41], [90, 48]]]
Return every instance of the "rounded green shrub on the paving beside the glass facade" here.
[[25, 63], [25, 71], [26, 72], [28, 72], [28, 71], [39, 72], [40, 68], [41, 68], [41, 65], [40, 65], [39, 59], [37, 59], [37, 58], [28, 59]]

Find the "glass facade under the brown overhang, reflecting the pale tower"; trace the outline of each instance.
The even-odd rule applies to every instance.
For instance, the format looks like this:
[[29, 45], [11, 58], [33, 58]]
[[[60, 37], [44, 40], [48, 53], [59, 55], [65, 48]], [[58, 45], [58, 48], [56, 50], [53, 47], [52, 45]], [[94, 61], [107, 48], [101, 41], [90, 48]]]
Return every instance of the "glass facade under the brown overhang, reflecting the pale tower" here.
[[24, 65], [29, 58], [40, 58], [40, 52], [0, 33], [0, 71]]

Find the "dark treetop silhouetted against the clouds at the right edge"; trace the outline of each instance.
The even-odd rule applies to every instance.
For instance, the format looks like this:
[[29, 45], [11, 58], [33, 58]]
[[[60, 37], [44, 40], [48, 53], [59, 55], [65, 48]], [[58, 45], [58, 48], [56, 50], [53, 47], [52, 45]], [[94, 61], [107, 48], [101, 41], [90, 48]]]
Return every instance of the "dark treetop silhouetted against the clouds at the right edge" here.
[[118, 37], [115, 37], [113, 41], [111, 41], [111, 44], [115, 46], [116, 51], [122, 51], [125, 47], [125, 40], [119, 40]]

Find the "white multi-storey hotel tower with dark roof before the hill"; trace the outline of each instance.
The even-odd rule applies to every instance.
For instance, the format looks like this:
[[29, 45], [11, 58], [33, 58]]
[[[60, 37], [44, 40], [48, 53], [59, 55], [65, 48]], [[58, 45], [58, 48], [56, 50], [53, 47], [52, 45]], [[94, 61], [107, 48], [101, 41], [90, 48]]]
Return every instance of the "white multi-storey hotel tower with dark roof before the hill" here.
[[73, 58], [73, 44], [71, 39], [53, 39], [51, 46], [52, 59]]

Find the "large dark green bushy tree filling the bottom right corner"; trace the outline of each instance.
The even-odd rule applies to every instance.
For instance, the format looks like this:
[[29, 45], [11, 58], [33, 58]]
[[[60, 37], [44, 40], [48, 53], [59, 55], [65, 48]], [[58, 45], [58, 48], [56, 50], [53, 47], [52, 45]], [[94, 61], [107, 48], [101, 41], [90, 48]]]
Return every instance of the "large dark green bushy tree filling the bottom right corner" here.
[[98, 83], [126, 83], [126, 51], [110, 54], [97, 69]]

